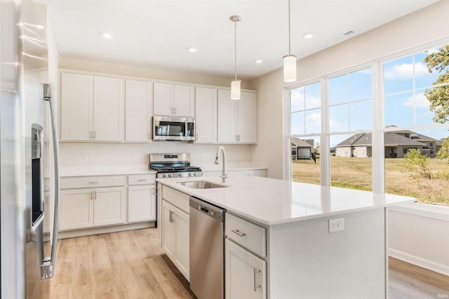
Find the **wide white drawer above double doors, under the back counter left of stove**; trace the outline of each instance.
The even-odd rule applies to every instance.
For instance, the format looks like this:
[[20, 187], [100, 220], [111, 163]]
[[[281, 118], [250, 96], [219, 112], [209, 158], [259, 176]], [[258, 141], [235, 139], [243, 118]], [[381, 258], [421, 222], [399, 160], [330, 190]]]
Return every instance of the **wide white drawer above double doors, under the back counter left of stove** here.
[[61, 178], [60, 184], [61, 189], [124, 186], [126, 185], [126, 175]]

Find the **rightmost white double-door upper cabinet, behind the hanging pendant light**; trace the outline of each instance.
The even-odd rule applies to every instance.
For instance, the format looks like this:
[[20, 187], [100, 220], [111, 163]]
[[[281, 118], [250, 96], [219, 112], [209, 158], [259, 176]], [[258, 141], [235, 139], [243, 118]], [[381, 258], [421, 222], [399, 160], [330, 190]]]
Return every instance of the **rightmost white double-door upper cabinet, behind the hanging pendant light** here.
[[242, 91], [240, 100], [231, 100], [231, 91], [218, 91], [218, 142], [257, 142], [256, 118], [255, 93]]

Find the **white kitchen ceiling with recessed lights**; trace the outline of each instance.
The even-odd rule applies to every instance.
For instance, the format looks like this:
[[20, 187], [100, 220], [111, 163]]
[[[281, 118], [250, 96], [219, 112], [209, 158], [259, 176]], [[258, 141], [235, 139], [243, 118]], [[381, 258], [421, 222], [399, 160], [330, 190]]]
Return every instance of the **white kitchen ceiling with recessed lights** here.
[[[253, 79], [288, 54], [287, 0], [40, 0], [60, 56]], [[438, 0], [291, 0], [291, 52], [321, 51]], [[344, 33], [354, 31], [345, 36]], [[110, 32], [112, 39], [102, 38]], [[304, 39], [312, 32], [314, 37]], [[188, 48], [197, 48], [191, 53]], [[256, 63], [255, 60], [262, 60]]]

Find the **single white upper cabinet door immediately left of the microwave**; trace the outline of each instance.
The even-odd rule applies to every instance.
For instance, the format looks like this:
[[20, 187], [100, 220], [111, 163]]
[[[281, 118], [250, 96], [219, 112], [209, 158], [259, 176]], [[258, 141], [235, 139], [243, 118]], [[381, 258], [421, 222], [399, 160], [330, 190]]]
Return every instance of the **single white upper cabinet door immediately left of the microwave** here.
[[125, 140], [147, 142], [152, 139], [153, 84], [126, 80]]

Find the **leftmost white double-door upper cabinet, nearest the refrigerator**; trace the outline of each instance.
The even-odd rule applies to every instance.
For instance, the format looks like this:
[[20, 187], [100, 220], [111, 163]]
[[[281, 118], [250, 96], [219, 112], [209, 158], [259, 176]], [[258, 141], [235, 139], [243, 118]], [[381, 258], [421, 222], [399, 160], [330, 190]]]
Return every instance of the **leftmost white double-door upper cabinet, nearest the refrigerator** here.
[[123, 141], [124, 80], [62, 73], [62, 141]]

